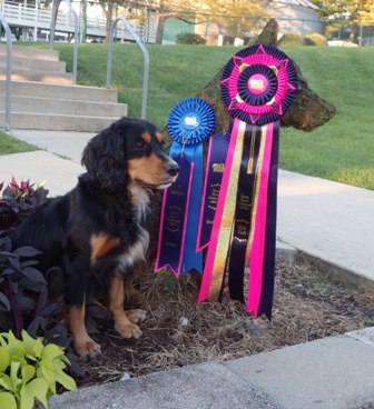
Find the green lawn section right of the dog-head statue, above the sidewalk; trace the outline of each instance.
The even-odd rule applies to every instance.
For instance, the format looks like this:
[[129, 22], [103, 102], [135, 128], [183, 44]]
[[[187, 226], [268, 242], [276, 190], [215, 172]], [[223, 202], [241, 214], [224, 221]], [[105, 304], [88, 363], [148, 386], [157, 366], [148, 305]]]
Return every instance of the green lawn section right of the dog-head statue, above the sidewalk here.
[[285, 129], [280, 166], [374, 190], [374, 47], [286, 51], [337, 113], [311, 133]]

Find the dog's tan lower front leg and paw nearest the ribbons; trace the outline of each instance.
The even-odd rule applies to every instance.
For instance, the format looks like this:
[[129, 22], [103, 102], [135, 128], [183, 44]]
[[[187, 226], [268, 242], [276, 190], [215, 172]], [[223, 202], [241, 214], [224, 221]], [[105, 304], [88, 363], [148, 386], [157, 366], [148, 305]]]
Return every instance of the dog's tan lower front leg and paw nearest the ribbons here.
[[125, 282], [121, 277], [115, 276], [110, 282], [109, 309], [114, 316], [115, 328], [124, 338], [139, 338], [142, 332], [129, 318], [124, 309]]

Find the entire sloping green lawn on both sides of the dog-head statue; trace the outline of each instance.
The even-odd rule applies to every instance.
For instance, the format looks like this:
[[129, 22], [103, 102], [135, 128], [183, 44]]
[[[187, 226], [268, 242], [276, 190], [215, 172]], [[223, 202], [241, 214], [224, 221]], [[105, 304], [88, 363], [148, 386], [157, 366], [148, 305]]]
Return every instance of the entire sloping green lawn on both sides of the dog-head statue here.
[[[238, 51], [234, 47], [147, 48], [147, 117], [161, 128], [174, 104], [194, 97]], [[72, 46], [58, 43], [56, 49], [71, 70]], [[311, 133], [283, 129], [280, 167], [374, 190], [374, 47], [295, 47], [284, 51], [301, 67], [311, 88], [336, 106], [337, 114]], [[129, 104], [130, 116], [140, 116], [142, 61], [135, 44], [115, 44], [112, 86], [119, 101]], [[106, 66], [106, 44], [79, 46], [79, 83], [105, 86]]]

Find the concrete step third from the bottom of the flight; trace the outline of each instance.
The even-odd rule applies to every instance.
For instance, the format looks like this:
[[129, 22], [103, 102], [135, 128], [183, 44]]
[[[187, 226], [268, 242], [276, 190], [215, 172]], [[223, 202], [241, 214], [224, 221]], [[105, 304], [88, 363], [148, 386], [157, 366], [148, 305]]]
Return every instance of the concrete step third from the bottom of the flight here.
[[[6, 81], [0, 81], [1, 94], [6, 94]], [[28, 96], [96, 102], [117, 102], [117, 90], [114, 89], [61, 83], [46, 83], [37, 81], [12, 81], [12, 96]]]

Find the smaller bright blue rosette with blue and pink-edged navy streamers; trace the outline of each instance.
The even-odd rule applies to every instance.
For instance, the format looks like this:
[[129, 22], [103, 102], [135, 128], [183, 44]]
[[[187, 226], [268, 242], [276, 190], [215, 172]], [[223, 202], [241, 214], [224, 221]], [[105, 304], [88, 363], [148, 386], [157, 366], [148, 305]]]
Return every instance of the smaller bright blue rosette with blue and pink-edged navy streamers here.
[[203, 272], [203, 252], [196, 250], [203, 196], [203, 142], [216, 126], [213, 108], [203, 99], [177, 103], [168, 118], [173, 139], [170, 157], [180, 171], [164, 193], [156, 269], [170, 268], [177, 276], [191, 269]]

